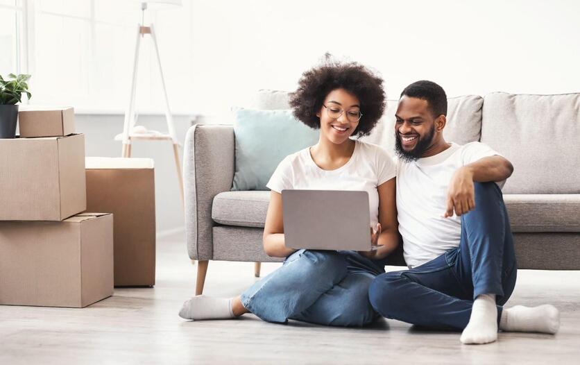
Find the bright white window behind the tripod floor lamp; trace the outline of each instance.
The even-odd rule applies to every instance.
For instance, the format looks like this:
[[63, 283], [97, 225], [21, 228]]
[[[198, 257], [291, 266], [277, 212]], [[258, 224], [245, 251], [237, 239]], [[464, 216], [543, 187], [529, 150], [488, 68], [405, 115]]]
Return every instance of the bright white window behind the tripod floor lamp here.
[[[172, 112], [191, 112], [187, 96], [191, 1], [146, 12], [157, 31]], [[31, 103], [80, 112], [125, 112], [133, 75], [139, 1], [0, 0], [0, 74], [32, 75]], [[153, 43], [142, 38], [137, 110], [162, 112]]]

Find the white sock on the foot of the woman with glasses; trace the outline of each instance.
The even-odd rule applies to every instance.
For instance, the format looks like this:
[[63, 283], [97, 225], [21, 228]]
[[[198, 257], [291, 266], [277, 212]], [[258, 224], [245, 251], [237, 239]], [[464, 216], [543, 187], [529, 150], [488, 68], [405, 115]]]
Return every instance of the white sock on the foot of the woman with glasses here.
[[179, 316], [182, 319], [231, 319], [232, 299], [194, 296], [183, 303]]

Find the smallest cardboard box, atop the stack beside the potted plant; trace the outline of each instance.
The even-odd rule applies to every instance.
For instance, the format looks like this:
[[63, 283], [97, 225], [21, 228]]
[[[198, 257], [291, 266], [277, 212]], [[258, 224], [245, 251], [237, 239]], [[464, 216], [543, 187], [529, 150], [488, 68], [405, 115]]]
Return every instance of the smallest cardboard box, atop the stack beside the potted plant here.
[[59, 137], [74, 133], [74, 109], [22, 105], [18, 112], [20, 137]]

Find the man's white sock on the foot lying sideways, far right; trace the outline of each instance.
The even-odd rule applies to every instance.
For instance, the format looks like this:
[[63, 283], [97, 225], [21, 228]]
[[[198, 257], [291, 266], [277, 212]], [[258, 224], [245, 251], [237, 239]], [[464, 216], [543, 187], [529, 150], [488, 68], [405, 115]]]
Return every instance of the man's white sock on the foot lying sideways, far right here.
[[555, 334], [560, 328], [560, 312], [554, 305], [524, 307], [516, 305], [502, 311], [500, 330]]

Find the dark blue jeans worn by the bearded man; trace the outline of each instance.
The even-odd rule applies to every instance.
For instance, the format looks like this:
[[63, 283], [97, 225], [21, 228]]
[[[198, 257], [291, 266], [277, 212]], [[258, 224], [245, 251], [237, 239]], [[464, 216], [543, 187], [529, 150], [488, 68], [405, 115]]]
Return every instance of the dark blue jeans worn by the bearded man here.
[[499, 323], [517, 272], [502, 192], [495, 182], [476, 182], [475, 210], [461, 216], [459, 247], [411, 270], [379, 275], [368, 296], [387, 318], [463, 330], [479, 294], [496, 295]]

